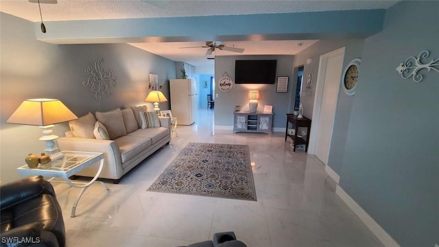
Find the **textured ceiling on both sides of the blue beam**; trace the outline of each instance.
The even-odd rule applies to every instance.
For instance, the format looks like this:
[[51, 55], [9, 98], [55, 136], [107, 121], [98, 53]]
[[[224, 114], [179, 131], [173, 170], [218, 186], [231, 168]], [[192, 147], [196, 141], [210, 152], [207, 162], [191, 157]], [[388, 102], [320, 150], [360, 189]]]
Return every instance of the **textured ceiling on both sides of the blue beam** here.
[[[31, 0], [36, 2], [37, 0]], [[398, 1], [252, 1], [252, 0], [197, 0], [197, 1], [147, 1], [147, 0], [57, 0], [56, 4], [40, 0], [43, 21], [75, 21], [97, 19], [159, 18], [171, 16], [213, 16], [237, 14], [268, 14], [292, 12], [321, 12], [331, 10], [370, 10], [386, 9]], [[27, 0], [0, 0], [0, 11], [18, 16], [28, 21], [39, 22], [40, 12], [37, 3]], [[180, 47], [202, 46], [205, 41], [182, 43], [133, 43], [175, 61], [185, 61], [197, 68], [210, 68], [213, 60], [206, 60], [206, 48], [180, 49]], [[219, 40], [227, 46], [246, 49], [245, 55], [285, 54], [294, 55], [312, 45], [317, 40], [260, 40], [231, 41]], [[301, 43], [302, 45], [298, 45]], [[214, 56], [237, 55], [230, 51], [216, 51]], [[205, 69], [197, 69], [203, 71]]]

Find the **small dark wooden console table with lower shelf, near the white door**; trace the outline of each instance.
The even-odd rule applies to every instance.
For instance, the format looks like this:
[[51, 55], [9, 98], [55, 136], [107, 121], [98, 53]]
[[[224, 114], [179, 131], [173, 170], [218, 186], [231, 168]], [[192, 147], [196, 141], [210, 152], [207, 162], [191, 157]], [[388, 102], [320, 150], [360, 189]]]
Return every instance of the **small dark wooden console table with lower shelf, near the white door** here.
[[[294, 129], [294, 134], [288, 133], [289, 126]], [[307, 128], [307, 133], [305, 135], [300, 135], [298, 133], [298, 128], [303, 127]], [[293, 152], [296, 152], [297, 145], [305, 144], [305, 152], [308, 152], [308, 144], [309, 144], [309, 132], [311, 130], [311, 119], [306, 117], [298, 118], [292, 114], [287, 114], [287, 126], [285, 128], [285, 141], [287, 141], [287, 137], [290, 137], [293, 140], [294, 148]]]

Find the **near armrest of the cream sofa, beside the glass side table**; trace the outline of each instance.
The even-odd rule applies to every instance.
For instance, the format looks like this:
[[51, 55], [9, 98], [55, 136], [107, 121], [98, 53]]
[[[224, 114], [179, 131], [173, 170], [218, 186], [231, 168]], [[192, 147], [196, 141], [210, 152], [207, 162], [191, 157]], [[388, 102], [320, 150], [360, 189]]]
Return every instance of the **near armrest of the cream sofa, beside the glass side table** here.
[[[119, 145], [117, 145], [115, 141], [82, 137], [60, 137], [57, 141], [60, 150], [104, 153], [104, 167], [99, 178], [117, 179], [123, 175], [121, 152], [119, 150]], [[93, 168], [93, 171], [95, 170], [94, 168], [97, 169], [95, 165], [89, 168]], [[80, 175], [95, 176], [96, 173], [92, 172], [92, 169], [89, 168], [80, 172]], [[84, 174], [84, 172], [86, 174]]]

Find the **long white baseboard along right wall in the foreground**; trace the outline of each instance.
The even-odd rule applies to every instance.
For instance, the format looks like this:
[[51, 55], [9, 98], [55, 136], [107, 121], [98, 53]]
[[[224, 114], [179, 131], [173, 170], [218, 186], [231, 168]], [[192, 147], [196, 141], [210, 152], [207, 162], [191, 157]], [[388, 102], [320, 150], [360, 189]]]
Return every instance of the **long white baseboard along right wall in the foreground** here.
[[377, 222], [375, 222], [375, 220], [373, 220], [373, 218], [370, 217], [370, 215], [368, 215], [368, 213], [366, 213], [366, 211], [364, 211], [364, 209], [362, 209], [359, 204], [357, 204], [357, 202], [355, 202], [355, 200], [353, 200], [353, 198], [351, 198], [351, 196], [349, 196], [348, 193], [342, 189], [342, 187], [340, 187], [340, 185], [337, 185], [335, 188], [335, 193], [340, 196], [340, 198], [344, 201], [344, 203], [346, 203], [346, 205], [348, 205], [350, 209], [352, 209], [352, 211], [354, 211], [359, 219], [366, 224], [369, 230], [372, 231], [375, 236], [377, 236], [379, 241], [381, 241], [384, 246], [399, 247], [399, 244], [396, 243], [396, 241], [390, 237], [390, 235], [386, 233], [384, 229]]

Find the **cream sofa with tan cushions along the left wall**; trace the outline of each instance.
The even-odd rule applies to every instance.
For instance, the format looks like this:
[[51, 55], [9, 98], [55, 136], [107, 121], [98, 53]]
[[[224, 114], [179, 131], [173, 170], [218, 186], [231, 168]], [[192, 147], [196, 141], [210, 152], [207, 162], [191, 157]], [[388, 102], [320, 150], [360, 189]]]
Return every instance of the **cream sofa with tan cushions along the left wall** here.
[[[147, 106], [131, 106], [106, 113], [97, 112], [96, 117], [88, 113], [69, 122], [71, 131], [66, 132], [66, 137], [58, 139], [59, 148], [104, 153], [104, 168], [99, 178], [119, 183], [124, 174], [169, 144], [171, 139], [170, 118], [146, 112]], [[149, 123], [145, 115], [152, 117]], [[93, 177], [98, 168], [99, 165], [95, 164], [76, 175]]]

